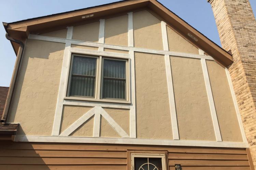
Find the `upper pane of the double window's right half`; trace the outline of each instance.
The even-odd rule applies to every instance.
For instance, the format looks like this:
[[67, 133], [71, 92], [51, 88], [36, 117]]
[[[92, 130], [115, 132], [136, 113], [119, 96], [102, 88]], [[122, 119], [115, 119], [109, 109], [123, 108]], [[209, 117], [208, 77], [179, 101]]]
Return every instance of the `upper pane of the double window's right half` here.
[[125, 61], [106, 60], [103, 64], [103, 76], [125, 79]]

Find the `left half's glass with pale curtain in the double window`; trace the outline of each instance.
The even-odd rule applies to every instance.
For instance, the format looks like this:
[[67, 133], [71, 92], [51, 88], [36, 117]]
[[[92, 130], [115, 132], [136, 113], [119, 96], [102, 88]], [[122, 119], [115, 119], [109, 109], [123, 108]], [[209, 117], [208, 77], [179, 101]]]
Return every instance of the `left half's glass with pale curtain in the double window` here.
[[70, 96], [94, 97], [96, 60], [91, 57], [73, 57]]

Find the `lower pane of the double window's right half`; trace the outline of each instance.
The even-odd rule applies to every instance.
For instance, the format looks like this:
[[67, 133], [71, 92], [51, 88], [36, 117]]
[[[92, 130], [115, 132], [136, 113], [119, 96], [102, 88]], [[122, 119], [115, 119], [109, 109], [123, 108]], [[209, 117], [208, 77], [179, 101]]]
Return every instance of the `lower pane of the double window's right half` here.
[[103, 98], [125, 99], [125, 81], [103, 80]]

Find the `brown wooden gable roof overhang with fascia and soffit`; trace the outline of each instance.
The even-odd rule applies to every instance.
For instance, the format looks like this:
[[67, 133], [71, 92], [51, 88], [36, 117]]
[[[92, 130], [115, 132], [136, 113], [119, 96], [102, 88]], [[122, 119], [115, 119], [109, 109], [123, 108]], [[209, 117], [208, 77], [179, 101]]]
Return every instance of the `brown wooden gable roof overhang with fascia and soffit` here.
[[[3, 24], [6, 32], [8, 32], [11, 37], [21, 40], [22, 38], [26, 38], [28, 34], [33, 31], [46, 30], [53, 27], [65, 28], [67, 26], [71, 26], [74, 23], [83, 22], [85, 21], [82, 19], [82, 16], [84, 15], [94, 14], [94, 17], [90, 17], [89, 19], [99, 19], [102, 16], [113, 15], [122, 12], [124, 13], [145, 7], [154, 11], [171, 27], [173, 27], [187, 39], [193, 41], [196, 46], [207, 52], [219, 63], [223, 64], [224, 66], [229, 66], [233, 62], [232, 56], [227, 51], [219, 47], [198, 30], [190, 26], [187, 22], [171, 12], [157, 0], [124, 0], [104, 5], [82, 8], [80, 10], [73, 10]], [[188, 34], [193, 35], [196, 39], [198, 39], [198, 41], [196, 42], [191, 39]], [[13, 44], [13, 46], [17, 53], [18, 45]]]

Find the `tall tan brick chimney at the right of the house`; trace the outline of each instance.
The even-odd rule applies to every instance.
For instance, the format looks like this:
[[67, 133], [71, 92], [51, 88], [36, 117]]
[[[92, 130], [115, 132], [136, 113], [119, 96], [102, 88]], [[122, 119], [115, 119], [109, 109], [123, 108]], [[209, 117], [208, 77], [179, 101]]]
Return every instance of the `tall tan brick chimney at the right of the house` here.
[[243, 126], [256, 167], [256, 21], [248, 0], [208, 0], [229, 66]]

